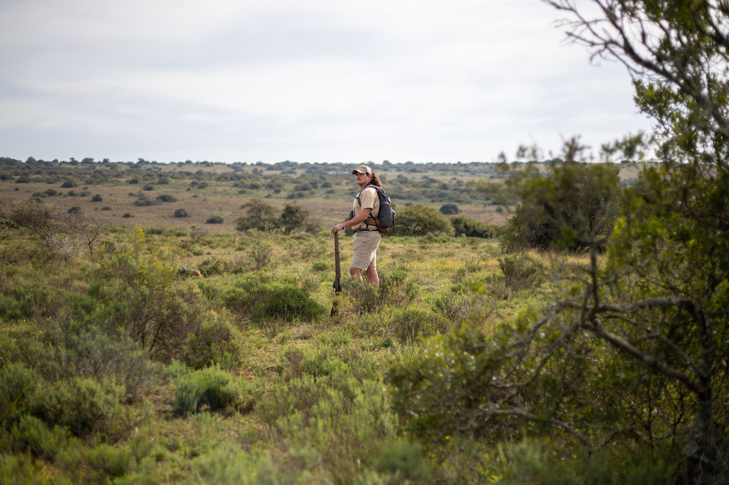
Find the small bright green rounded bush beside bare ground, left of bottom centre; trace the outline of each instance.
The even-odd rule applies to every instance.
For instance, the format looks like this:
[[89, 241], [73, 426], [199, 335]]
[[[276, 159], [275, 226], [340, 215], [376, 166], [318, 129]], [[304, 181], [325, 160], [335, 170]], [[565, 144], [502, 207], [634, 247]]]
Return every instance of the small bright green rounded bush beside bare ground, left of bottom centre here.
[[198, 412], [205, 405], [219, 408], [233, 404], [236, 394], [230, 374], [219, 367], [183, 375], [175, 383], [175, 405], [180, 414]]

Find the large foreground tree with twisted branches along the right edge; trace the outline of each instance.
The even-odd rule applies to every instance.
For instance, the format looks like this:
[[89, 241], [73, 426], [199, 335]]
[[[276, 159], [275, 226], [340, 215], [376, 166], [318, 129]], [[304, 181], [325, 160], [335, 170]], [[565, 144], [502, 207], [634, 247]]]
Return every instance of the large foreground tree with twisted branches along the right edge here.
[[[530, 422], [564, 430], [588, 456], [614, 446], [676, 462], [685, 484], [729, 483], [729, 2], [543, 1], [593, 59], [627, 66], [655, 121], [655, 138], [628, 136], [605, 154], [655, 141], [661, 163], [625, 191], [607, 240], [599, 229], [614, 206], [580, 212], [550, 189], [542, 221], [588, 264], [564, 273], [550, 307], [488, 336], [465, 328], [394, 366], [394, 405], [434, 439]], [[566, 209], [577, 210], [569, 221]]]

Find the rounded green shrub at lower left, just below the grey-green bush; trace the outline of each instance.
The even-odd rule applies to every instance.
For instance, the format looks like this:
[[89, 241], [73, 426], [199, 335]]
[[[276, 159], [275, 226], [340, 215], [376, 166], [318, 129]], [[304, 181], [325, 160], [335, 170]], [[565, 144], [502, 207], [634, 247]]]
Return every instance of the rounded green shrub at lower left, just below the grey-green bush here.
[[66, 426], [77, 436], [113, 434], [124, 425], [124, 387], [111, 381], [74, 377], [45, 385], [31, 401], [31, 413], [47, 425]]

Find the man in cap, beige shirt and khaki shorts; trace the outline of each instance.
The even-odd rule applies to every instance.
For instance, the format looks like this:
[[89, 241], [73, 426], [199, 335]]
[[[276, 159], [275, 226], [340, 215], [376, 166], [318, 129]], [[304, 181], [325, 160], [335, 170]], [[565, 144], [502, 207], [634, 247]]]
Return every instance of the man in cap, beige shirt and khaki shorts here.
[[[362, 271], [367, 275], [367, 283], [380, 284], [377, 275], [377, 248], [380, 245], [380, 232], [374, 224], [367, 224], [367, 218], [377, 217], [380, 213], [380, 197], [373, 186], [382, 186], [377, 172], [367, 165], [359, 165], [352, 171], [356, 176], [359, 192], [354, 197], [354, 218], [343, 224], [335, 224], [332, 234], [343, 231], [346, 227], [354, 230], [354, 251], [349, 274], [362, 280]], [[374, 222], [370, 220], [370, 222]]]

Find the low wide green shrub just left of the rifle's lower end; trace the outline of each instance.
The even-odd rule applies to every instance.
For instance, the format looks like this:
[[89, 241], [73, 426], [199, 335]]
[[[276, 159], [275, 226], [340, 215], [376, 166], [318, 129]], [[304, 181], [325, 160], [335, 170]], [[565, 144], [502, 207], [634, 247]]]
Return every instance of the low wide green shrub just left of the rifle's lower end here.
[[311, 298], [311, 291], [295, 283], [282, 283], [272, 276], [246, 275], [225, 293], [225, 305], [254, 320], [286, 318], [318, 320], [327, 311]]

